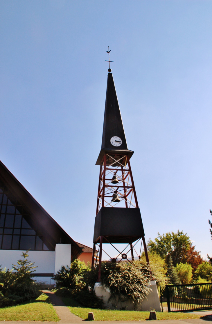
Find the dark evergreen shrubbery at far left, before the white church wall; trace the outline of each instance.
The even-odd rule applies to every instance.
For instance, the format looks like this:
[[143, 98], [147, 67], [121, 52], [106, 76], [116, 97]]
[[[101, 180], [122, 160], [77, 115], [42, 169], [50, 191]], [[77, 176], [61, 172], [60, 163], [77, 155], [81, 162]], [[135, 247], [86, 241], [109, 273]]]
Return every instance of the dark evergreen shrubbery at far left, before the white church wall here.
[[[13, 264], [13, 269], [0, 272], [0, 307], [12, 306], [17, 303], [37, 298], [39, 286], [31, 278], [34, 272], [34, 263], [27, 260], [28, 251], [22, 252], [23, 260], [18, 260], [18, 265]], [[13, 272], [15, 270], [15, 272]]]

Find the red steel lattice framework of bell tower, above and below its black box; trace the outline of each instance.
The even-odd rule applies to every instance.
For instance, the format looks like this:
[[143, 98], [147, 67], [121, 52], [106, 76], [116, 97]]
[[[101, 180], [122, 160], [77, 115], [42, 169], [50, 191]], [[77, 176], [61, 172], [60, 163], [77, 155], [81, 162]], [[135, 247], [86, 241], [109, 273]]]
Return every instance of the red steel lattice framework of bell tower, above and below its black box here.
[[[117, 185], [111, 183], [113, 175], [115, 175], [119, 181], [119, 183]], [[112, 208], [118, 207], [117, 204], [120, 204], [121, 202], [120, 203], [119, 202], [118, 203], [111, 202], [112, 194], [114, 192], [116, 192], [118, 194], [119, 198], [121, 199], [121, 201], [123, 201], [125, 203], [124, 205], [126, 208], [139, 208], [136, 191], [135, 191], [135, 185], [134, 185], [134, 181], [133, 181], [132, 170], [131, 170], [131, 166], [130, 166], [129, 156], [124, 155], [124, 154], [115, 155], [115, 154], [105, 153], [104, 157], [102, 159], [101, 165], [100, 165], [96, 215], [98, 214], [101, 207], [112, 207]], [[108, 200], [108, 198], [110, 198], [110, 201]], [[146, 243], [145, 243], [145, 237], [143, 236], [141, 238], [142, 238], [141, 244], [143, 243], [146, 262], [149, 263], [148, 252], [147, 252]], [[101, 257], [102, 257], [102, 251], [104, 251], [102, 249], [102, 240], [103, 240], [103, 236], [100, 236], [100, 243], [98, 245], [98, 254], [99, 254], [98, 281], [99, 282], [101, 281]], [[106, 240], [108, 243], [110, 243], [110, 241], [106, 237], [104, 237], [104, 240]], [[137, 240], [137, 242], [135, 244], [137, 244], [139, 240]], [[135, 244], [127, 245], [127, 247], [130, 245], [129, 251], [131, 251], [132, 260], [134, 260], [133, 249], [134, 249]], [[123, 250], [122, 252], [120, 252], [118, 249], [116, 249], [116, 250], [120, 253], [119, 255], [122, 255], [122, 253], [124, 251]], [[95, 252], [96, 252], [96, 243], [94, 243], [94, 245], [93, 245], [92, 267], [94, 266]], [[140, 249], [140, 253], [141, 253], [141, 249]], [[136, 252], [136, 254], [137, 254], [137, 252]], [[140, 255], [139, 255], [139, 259], [140, 259]], [[97, 266], [97, 256], [96, 256], [95, 260], [96, 260], [95, 266]]]

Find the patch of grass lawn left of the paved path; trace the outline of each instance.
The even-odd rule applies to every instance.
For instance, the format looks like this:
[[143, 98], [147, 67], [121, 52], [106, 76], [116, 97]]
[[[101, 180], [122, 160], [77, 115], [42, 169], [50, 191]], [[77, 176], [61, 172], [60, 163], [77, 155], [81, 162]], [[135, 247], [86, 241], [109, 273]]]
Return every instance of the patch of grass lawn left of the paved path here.
[[1, 321], [58, 321], [58, 315], [48, 296], [41, 294], [36, 300], [17, 306], [0, 308]]

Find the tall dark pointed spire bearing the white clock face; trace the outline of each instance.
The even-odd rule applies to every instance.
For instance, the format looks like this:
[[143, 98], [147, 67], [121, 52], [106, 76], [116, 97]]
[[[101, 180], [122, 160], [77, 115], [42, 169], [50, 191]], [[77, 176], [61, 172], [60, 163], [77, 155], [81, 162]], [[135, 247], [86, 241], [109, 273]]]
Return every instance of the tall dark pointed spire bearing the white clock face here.
[[[114, 144], [118, 144], [118, 146], [111, 144], [112, 137], [114, 137], [116, 142]], [[127, 150], [127, 142], [112, 73], [108, 73], [101, 149]]]

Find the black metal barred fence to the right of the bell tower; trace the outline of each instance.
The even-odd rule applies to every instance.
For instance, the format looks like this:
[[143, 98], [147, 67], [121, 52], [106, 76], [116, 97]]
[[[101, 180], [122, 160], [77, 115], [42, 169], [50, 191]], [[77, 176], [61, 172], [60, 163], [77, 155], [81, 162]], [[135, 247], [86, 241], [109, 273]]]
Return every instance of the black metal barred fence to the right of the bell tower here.
[[212, 283], [166, 285], [168, 312], [212, 309]]

